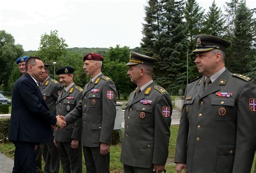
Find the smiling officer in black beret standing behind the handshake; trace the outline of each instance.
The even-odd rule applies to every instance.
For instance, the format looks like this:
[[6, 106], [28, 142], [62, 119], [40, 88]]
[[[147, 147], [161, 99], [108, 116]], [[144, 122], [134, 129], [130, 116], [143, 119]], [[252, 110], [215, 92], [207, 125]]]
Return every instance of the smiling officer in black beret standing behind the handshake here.
[[[57, 115], [65, 116], [76, 107], [81, 99], [83, 88], [73, 82], [72, 67], [60, 68], [56, 74], [64, 87], [59, 93], [56, 105]], [[64, 173], [82, 173], [82, 119], [78, 119], [63, 129], [55, 130], [55, 143], [59, 150]]]

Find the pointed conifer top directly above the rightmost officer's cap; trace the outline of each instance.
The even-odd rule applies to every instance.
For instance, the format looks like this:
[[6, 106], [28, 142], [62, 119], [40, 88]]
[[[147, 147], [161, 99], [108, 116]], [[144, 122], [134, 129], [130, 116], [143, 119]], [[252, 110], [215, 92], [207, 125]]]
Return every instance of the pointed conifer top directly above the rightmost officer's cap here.
[[203, 26], [203, 33], [216, 37], [224, 37], [226, 34], [225, 18], [221, 9], [216, 5], [215, 0], [206, 14]]

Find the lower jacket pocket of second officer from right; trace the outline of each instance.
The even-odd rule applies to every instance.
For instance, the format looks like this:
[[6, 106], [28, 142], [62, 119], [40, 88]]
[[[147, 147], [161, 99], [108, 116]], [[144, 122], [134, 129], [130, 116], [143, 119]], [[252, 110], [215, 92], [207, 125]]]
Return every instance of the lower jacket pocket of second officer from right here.
[[152, 164], [154, 141], [139, 141], [138, 162], [141, 164]]

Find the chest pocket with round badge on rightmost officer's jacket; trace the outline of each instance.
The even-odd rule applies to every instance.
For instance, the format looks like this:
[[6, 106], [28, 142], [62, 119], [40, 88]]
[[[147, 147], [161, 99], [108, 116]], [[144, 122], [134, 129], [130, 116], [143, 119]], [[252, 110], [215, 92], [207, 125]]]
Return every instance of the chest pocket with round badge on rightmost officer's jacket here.
[[231, 121], [236, 116], [234, 98], [212, 98], [211, 119], [214, 121]]

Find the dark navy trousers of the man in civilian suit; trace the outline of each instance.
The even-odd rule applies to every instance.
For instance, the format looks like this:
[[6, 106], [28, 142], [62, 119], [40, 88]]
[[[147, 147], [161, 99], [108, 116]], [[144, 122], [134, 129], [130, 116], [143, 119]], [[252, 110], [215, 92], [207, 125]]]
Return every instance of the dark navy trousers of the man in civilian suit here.
[[35, 143], [13, 141], [15, 145], [12, 173], [36, 173]]

